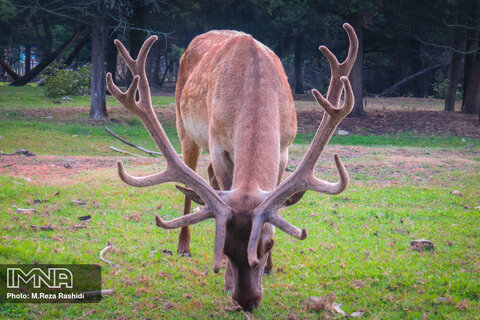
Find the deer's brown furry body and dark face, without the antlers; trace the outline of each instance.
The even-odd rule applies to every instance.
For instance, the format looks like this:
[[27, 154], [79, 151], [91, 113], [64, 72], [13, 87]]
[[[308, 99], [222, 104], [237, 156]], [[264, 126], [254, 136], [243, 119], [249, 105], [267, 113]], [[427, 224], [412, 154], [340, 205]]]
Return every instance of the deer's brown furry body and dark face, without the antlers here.
[[[235, 213], [225, 239], [226, 289], [251, 308], [260, 302], [263, 274], [263, 268], [254, 270], [247, 261], [251, 213], [264, 192], [280, 181], [297, 131], [287, 77], [278, 57], [251, 35], [211, 31], [196, 37], [185, 51], [175, 96], [185, 162], [195, 169], [198, 153], [190, 144], [209, 151], [220, 189], [231, 190], [224, 199]], [[273, 239], [271, 227], [263, 238]], [[188, 248], [187, 242], [181, 238], [179, 250]], [[272, 268], [270, 257], [268, 271]]]

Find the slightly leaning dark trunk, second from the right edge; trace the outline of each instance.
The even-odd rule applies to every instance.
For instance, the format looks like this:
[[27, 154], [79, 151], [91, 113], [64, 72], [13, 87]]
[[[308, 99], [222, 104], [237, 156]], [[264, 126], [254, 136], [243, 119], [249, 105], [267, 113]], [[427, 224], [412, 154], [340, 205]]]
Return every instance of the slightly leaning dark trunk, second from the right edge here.
[[[453, 47], [457, 50], [463, 50], [465, 44], [465, 33], [460, 28], [455, 28]], [[445, 97], [445, 109], [443, 111], [455, 111], [455, 100], [457, 98], [458, 82], [462, 76], [462, 58], [463, 54], [453, 51], [449, 72], [449, 82], [447, 96]]]

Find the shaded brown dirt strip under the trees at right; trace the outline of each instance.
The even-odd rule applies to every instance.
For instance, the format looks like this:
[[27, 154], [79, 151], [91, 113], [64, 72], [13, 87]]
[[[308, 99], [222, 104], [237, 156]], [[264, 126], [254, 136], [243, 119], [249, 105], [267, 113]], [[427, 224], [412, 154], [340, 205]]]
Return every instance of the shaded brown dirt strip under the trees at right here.
[[[323, 112], [304, 110], [297, 112], [298, 132], [315, 132]], [[370, 111], [365, 117], [346, 118], [338, 128], [353, 134], [389, 135], [413, 132], [418, 135], [454, 135], [480, 138], [477, 115], [438, 111]]]

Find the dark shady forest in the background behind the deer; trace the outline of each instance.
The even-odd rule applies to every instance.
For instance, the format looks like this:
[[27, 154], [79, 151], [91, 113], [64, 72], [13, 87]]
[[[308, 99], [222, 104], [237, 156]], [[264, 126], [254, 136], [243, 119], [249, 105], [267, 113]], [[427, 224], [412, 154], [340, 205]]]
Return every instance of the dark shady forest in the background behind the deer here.
[[90, 85], [99, 95], [92, 102], [94, 118], [107, 116], [105, 70], [123, 85], [130, 77], [117, 57], [116, 38], [135, 56], [147, 36], [158, 35], [147, 73], [152, 87], [172, 92], [179, 58], [196, 35], [244, 31], [280, 57], [292, 92], [306, 94], [328, 86], [329, 67], [319, 45], [346, 54], [343, 22], [354, 27], [360, 41], [350, 75], [356, 98], [352, 116], [364, 114], [362, 98], [370, 96], [436, 97], [445, 99], [445, 111], [454, 111], [459, 99], [457, 111], [480, 110], [478, 0], [1, 0], [0, 8], [2, 81], [14, 86], [38, 81], [53, 61], [73, 70], [89, 65]]

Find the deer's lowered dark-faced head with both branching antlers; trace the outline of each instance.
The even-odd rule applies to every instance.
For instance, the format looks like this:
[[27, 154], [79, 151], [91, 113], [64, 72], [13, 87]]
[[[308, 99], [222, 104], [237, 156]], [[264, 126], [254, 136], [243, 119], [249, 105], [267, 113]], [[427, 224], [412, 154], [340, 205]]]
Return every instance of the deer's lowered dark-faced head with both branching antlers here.
[[[270, 191], [214, 190], [202, 177], [185, 165], [168, 140], [151, 102], [145, 61], [157, 37], [152, 36], [145, 41], [136, 60], [130, 57], [120, 41], [115, 40], [134, 77], [132, 84], [124, 93], [113, 83], [111, 75], [107, 74], [107, 87], [113, 96], [141, 119], [167, 162], [167, 168], [163, 172], [146, 177], [134, 177], [128, 174], [122, 162], [118, 161], [120, 178], [135, 187], [165, 182], [179, 182], [188, 187], [179, 189], [203, 205], [203, 208], [170, 221], [164, 221], [157, 215], [156, 224], [163, 229], [177, 229], [206, 219], [215, 219], [213, 268], [218, 272], [224, 256], [228, 257], [230, 262], [228, 272], [232, 274], [232, 283], [227, 284], [227, 287], [233, 289], [234, 300], [244, 309], [251, 310], [258, 306], [262, 298], [262, 275], [267, 263], [267, 254], [274, 245], [273, 227], [300, 240], [307, 237], [305, 228], [299, 229], [286, 221], [280, 216], [279, 210], [298, 202], [307, 190], [338, 194], [348, 185], [348, 174], [338, 155], [334, 156], [339, 175], [336, 183], [322, 181], [314, 176], [314, 168], [323, 149], [354, 104], [348, 75], [355, 62], [358, 40], [349, 24], [344, 24], [343, 27], [350, 40], [348, 56], [343, 63], [339, 63], [335, 55], [325, 46], [320, 47], [331, 68], [327, 97], [324, 98], [317, 90], [312, 91], [317, 102], [325, 110], [322, 122], [295, 172]], [[342, 91], [345, 92], [344, 103], [338, 106]], [[290, 91], [288, 92], [290, 94]]]

